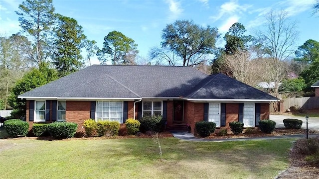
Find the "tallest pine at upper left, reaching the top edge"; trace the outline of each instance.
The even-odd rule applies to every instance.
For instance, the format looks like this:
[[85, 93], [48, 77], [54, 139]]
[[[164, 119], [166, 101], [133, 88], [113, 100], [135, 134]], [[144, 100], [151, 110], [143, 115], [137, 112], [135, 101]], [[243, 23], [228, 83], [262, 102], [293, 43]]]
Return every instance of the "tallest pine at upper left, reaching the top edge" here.
[[51, 54], [49, 33], [55, 23], [52, 0], [25, 0], [19, 5], [20, 27], [34, 38], [34, 51], [30, 53], [36, 63], [41, 63]]

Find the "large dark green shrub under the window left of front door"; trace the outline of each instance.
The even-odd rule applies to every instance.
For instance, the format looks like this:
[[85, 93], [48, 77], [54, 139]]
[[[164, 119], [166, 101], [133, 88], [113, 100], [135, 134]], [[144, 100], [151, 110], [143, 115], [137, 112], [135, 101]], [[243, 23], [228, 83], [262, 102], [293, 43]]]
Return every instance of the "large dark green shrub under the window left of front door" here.
[[161, 115], [143, 116], [141, 119], [139, 119], [141, 123], [141, 132], [145, 133], [146, 131], [161, 131], [166, 122], [166, 120], [162, 120], [162, 118], [163, 117]]

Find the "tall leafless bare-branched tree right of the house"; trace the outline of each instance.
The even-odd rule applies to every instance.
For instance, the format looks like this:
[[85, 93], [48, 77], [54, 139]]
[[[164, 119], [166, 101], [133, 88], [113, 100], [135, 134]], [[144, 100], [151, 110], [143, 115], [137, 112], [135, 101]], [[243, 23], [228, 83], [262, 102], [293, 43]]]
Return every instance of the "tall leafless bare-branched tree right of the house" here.
[[[298, 38], [295, 21], [290, 21], [286, 11], [270, 11], [266, 15], [266, 26], [256, 34], [262, 42], [262, 48], [272, 62], [265, 63], [268, 75], [265, 82], [274, 83], [271, 94], [279, 97], [280, 84], [286, 78], [288, 67], [283, 62], [293, 54], [292, 47]], [[278, 103], [274, 106], [278, 109]]]

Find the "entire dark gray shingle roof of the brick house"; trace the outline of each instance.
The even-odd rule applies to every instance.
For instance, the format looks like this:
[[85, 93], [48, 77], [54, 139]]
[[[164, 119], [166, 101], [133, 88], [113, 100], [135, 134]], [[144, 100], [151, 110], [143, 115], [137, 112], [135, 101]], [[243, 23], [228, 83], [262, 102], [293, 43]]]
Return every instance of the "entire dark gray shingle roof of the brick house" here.
[[19, 97], [277, 99], [225, 75], [207, 76], [192, 67], [124, 65], [93, 65]]

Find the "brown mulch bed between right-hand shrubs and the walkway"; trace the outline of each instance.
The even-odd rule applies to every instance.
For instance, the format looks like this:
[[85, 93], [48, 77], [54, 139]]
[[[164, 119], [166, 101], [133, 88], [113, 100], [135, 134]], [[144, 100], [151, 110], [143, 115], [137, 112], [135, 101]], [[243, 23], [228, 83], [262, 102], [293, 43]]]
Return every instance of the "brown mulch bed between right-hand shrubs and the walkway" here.
[[[216, 131], [217, 132], [217, 131]], [[309, 134], [319, 134], [319, 131], [309, 130]], [[283, 136], [283, 135], [296, 135], [296, 134], [306, 134], [306, 129], [286, 129], [286, 128], [277, 128], [271, 134], [266, 134], [260, 130], [253, 130], [248, 133], [244, 131], [239, 135], [227, 134], [225, 136], [219, 136], [214, 133], [207, 137], [207, 139], [229, 139], [229, 138], [249, 138], [249, 137], [270, 137], [270, 136]]]

